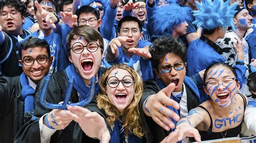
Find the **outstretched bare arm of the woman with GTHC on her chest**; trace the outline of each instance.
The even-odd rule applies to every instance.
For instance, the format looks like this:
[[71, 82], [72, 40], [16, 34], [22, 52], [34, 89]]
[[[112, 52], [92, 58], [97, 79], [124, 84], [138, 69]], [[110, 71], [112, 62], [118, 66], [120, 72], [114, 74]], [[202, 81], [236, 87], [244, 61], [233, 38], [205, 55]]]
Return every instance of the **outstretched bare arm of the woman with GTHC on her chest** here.
[[205, 120], [206, 114], [206, 111], [201, 108], [190, 110], [188, 116], [178, 121], [176, 130], [171, 132], [163, 142], [177, 142], [185, 137], [194, 137], [196, 141], [201, 141], [196, 127]]

